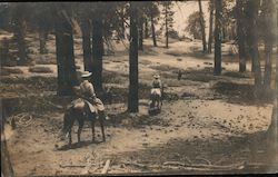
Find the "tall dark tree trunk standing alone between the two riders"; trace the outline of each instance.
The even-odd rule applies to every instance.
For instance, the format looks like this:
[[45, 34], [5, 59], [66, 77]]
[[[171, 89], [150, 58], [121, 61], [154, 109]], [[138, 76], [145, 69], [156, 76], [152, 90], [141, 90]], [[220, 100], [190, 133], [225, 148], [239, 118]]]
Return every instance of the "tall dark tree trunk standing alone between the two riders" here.
[[137, 2], [130, 2], [130, 48], [129, 48], [129, 96], [128, 111], [138, 112], [138, 10]]

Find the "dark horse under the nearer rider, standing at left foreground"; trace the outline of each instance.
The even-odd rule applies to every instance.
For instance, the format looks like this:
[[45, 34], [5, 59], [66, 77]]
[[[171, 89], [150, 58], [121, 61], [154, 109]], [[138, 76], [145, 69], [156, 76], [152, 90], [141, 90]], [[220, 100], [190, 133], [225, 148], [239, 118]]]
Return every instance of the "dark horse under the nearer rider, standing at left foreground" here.
[[[78, 142], [80, 142], [80, 135], [86, 120], [90, 121], [91, 124], [92, 141], [95, 141], [95, 122], [97, 120], [98, 115], [96, 109], [92, 109], [95, 108], [91, 108], [89, 106], [89, 102], [81, 98], [73, 100], [67, 107], [63, 116], [63, 128], [61, 136], [63, 138], [64, 136], [67, 137], [67, 135], [69, 135], [69, 145], [71, 145], [71, 129], [76, 120], [78, 121]], [[103, 118], [101, 116], [99, 116], [99, 122], [101, 127], [102, 141], [106, 141]]]

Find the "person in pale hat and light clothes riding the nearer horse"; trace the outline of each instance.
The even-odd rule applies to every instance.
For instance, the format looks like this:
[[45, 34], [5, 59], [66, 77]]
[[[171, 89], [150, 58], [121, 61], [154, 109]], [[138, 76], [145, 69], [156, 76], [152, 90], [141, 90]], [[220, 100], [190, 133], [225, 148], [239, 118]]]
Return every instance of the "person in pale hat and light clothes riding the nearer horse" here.
[[88, 100], [93, 107], [97, 109], [99, 117], [103, 119], [108, 119], [108, 117], [105, 114], [105, 105], [102, 101], [97, 98], [95, 88], [92, 83], [88, 80], [91, 77], [91, 72], [86, 71], [81, 77], [83, 78], [83, 81], [80, 83], [80, 91], [83, 97], [83, 99]]

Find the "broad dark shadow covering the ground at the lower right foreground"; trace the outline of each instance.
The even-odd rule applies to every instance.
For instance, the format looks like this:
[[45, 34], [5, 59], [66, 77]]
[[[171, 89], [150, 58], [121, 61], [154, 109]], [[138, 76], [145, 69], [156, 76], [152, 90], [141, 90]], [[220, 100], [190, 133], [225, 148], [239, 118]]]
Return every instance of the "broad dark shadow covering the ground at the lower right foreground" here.
[[[141, 171], [190, 174], [252, 174], [275, 171], [267, 156], [265, 132], [229, 137], [226, 140], [170, 139], [165, 145], [122, 153], [115, 164], [125, 164]], [[122, 159], [122, 157], [125, 157]], [[140, 159], [140, 161], [135, 161]], [[270, 160], [270, 161], [269, 161]], [[259, 161], [259, 163], [258, 163]], [[172, 164], [168, 166], [166, 164]], [[277, 168], [277, 167], [276, 167]]]

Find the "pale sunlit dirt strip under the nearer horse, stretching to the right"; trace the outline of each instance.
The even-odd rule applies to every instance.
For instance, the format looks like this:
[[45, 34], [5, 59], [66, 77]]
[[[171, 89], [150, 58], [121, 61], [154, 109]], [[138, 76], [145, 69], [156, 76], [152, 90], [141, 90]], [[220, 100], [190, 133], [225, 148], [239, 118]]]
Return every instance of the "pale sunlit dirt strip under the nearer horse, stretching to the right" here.
[[[221, 109], [218, 109], [219, 107]], [[140, 114], [146, 115], [147, 108], [140, 108]], [[10, 148], [10, 154], [16, 174], [20, 176], [80, 174], [83, 168], [63, 166], [86, 165], [85, 158], [89, 157], [93, 159], [92, 164], [100, 164], [100, 168], [95, 170], [95, 173], [100, 173], [101, 163], [105, 159], [116, 160], [119, 154], [167, 145], [171, 140], [195, 141], [211, 138], [225, 140], [230, 136], [244, 136], [266, 130], [270, 122], [270, 105], [246, 107], [225, 104], [220, 100], [179, 100], [165, 104], [160, 115], [145, 118], [146, 121], [152, 121], [152, 124], [135, 128], [128, 121], [123, 121], [121, 126], [107, 127], [106, 142], [91, 144], [91, 131], [86, 126], [81, 147], [57, 150], [56, 144], [61, 147], [66, 142], [56, 141], [58, 129], [52, 129], [50, 122], [61, 120], [62, 115], [56, 115], [56, 117], [51, 115], [49, 118], [34, 118], [33, 124], [27, 128], [19, 127], [16, 135], [8, 139], [8, 144], [9, 147], [16, 147]], [[100, 135], [99, 128], [97, 130]], [[101, 137], [98, 136], [97, 139], [100, 140]], [[76, 135], [73, 135], [73, 141], [77, 141]], [[93, 154], [98, 158], [93, 157]], [[127, 170], [118, 169], [117, 165], [119, 164], [115, 164], [113, 167], [111, 164], [111, 171], [125, 173]]]

